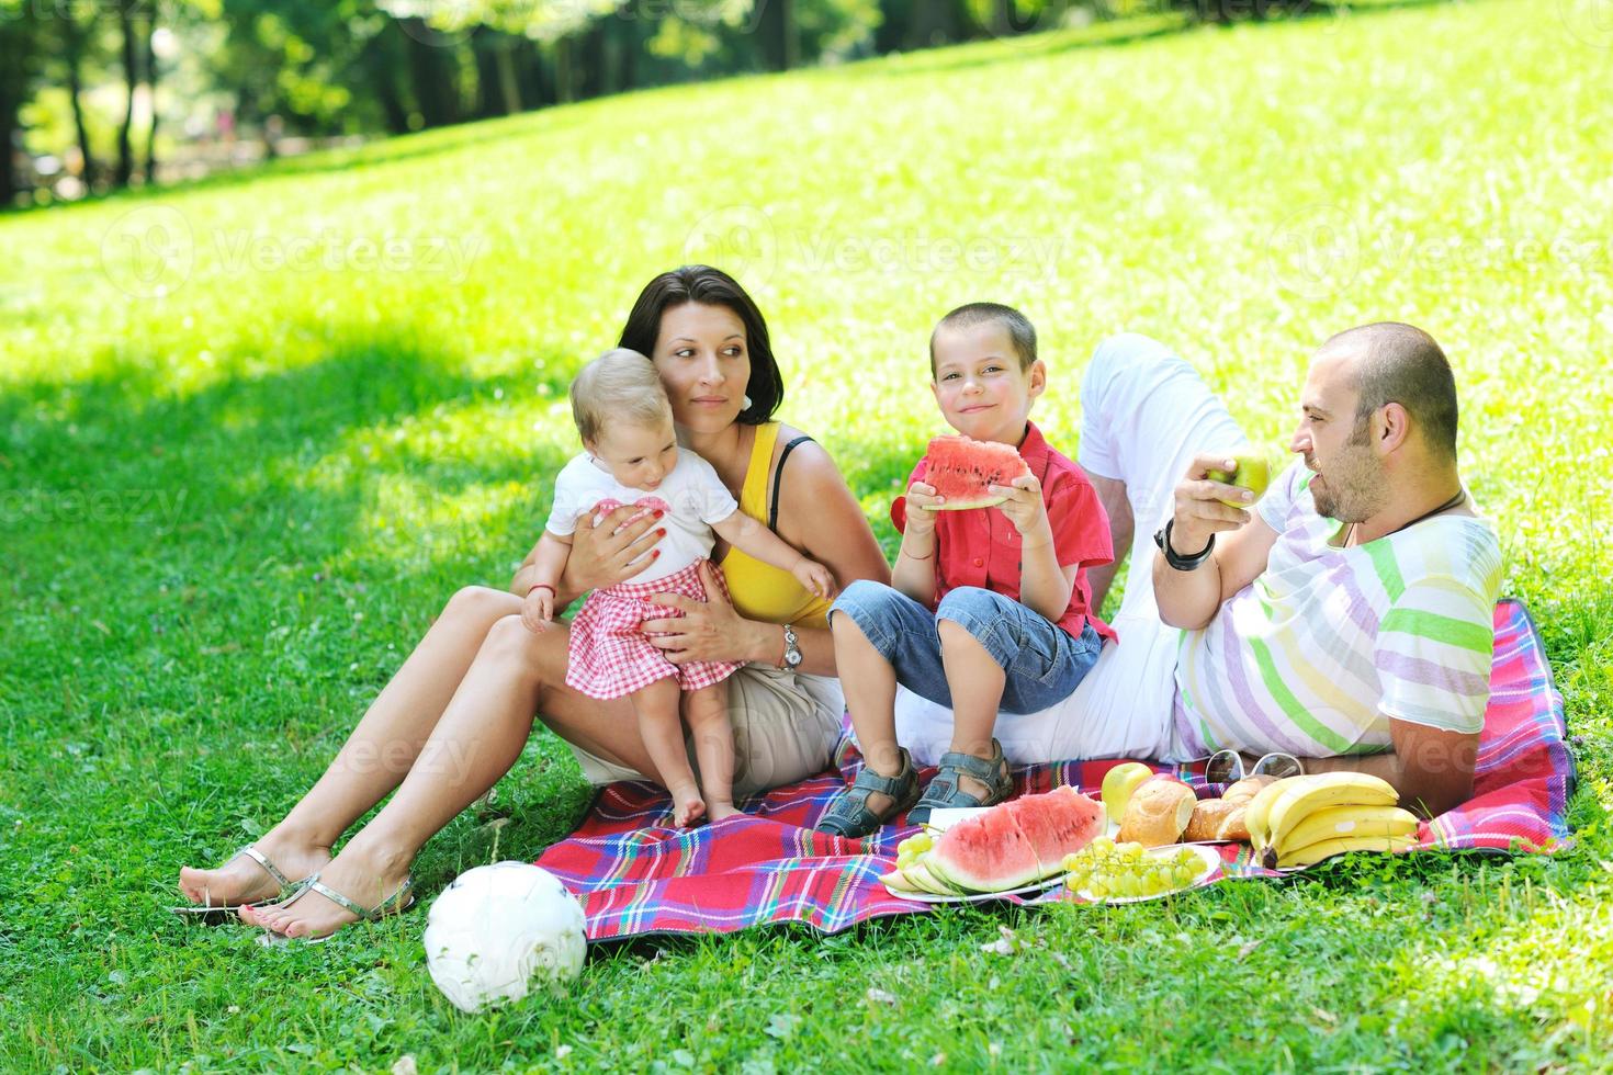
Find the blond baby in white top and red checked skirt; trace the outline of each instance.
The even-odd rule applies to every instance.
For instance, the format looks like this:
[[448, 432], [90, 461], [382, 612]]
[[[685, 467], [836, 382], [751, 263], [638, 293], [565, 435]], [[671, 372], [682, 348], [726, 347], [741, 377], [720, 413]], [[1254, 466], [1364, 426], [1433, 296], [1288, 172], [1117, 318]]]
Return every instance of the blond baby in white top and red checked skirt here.
[[[742, 514], [711, 464], [677, 446], [666, 390], [655, 366], [639, 351], [618, 348], [584, 366], [571, 382], [571, 414], [586, 451], [555, 479], [555, 503], [537, 543], [536, 582], [527, 590], [523, 619], [532, 630], [552, 624], [556, 587], [581, 514], [603, 514], [623, 504], [637, 504], [642, 511], [636, 517], [656, 513], [663, 537], [655, 550], [634, 561], [639, 572], [590, 593], [571, 621], [566, 685], [590, 698], [632, 699], [639, 735], [673, 795], [673, 822], [679, 828], [702, 817], [721, 820], [739, 812], [732, 801], [734, 733], [723, 680], [740, 666], [668, 661], [644, 635], [642, 624], [682, 612], [648, 598], [679, 593], [706, 600], [700, 564], [711, 554], [713, 532], [734, 548], [789, 571], [819, 596], [832, 596], [834, 575]], [[721, 583], [716, 564], [711, 572]], [[689, 766], [681, 708], [703, 787]]]

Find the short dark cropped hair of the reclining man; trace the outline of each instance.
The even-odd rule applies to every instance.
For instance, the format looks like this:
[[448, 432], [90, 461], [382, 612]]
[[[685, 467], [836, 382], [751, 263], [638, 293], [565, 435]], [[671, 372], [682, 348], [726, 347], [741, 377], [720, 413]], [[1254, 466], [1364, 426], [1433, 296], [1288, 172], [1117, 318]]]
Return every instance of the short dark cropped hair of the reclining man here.
[[1361, 429], [1373, 411], [1398, 403], [1423, 430], [1432, 451], [1457, 458], [1457, 377], [1445, 351], [1428, 332], [1398, 321], [1345, 329], [1321, 345], [1321, 353], [1358, 355], [1355, 424]]

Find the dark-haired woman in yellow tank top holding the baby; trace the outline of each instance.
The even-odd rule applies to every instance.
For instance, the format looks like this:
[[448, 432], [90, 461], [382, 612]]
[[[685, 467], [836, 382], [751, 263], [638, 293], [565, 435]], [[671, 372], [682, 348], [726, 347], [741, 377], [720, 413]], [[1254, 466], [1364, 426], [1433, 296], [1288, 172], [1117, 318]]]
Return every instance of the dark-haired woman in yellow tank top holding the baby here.
[[[673, 401], [679, 438], [786, 542], [826, 564], [840, 587], [890, 577], [873, 530], [834, 461], [798, 430], [769, 422], [782, 384], [768, 327], [729, 276], [686, 266], [639, 295], [621, 347], [650, 356]], [[561, 600], [634, 574], [660, 535], [652, 519], [618, 527], [624, 506], [579, 524]], [[536, 551], [536, 550], [534, 550]], [[732, 604], [679, 596], [682, 617], [648, 621], [673, 661], [750, 661], [729, 680], [736, 795], [821, 772], [840, 727], [829, 603], [787, 572], [718, 545]], [[527, 556], [527, 564], [531, 554]], [[487, 791], [521, 754], [534, 714], [571, 746], [594, 783], [645, 778], [655, 769], [626, 698], [595, 701], [565, 685], [566, 632], [521, 624], [527, 564], [510, 591], [468, 587], [381, 691], [324, 775], [281, 824], [221, 869], [182, 869], [194, 904], [250, 904], [286, 880], [318, 874], [295, 901], [242, 909], [242, 920], [286, 936], [318, 938], [406, 906], [415, 854]], [[706, 580], [706, 593], [719, 590]], [[348, 825], [397, 795], [342, 848]]]

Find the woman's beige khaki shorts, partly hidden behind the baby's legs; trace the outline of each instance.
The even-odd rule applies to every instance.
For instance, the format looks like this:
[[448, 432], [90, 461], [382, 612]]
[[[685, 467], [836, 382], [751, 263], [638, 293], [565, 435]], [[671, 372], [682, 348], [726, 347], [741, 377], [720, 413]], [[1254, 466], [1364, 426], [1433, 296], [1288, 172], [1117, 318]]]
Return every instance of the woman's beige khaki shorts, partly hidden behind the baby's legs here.
[[[786, 672], [769, 664], [747, 664], [727, 677], [726, 683], [727, 719], [734, 725], [736, 798], [795, 783], [829, 767], [845, 709], [840, 680]], [[687, 735], [686, 743], [689, 764], [698, 775], [700, 762]], [[592, 785], [650, 778], [581, 746], [566, 746]]]

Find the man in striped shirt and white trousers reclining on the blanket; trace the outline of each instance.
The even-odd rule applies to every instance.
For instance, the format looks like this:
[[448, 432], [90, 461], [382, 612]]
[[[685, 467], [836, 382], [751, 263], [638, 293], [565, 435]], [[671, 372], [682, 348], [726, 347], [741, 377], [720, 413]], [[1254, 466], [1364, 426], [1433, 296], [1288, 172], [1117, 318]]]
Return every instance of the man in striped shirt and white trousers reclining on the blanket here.
[[[1005, 716], [1005, 753], [1282, 751], [1307, 772], [1381, 775], [1424, 812], [1466, 801], [1502, 559], [1461, 487], [1439, 345], [1392, 322], [1327, 340], [1300, 396], [1300, 459], [1245, 508], [1208, 479], [1242, 430], [1158, 342], [1105, 340], [1081, 400], [1079, 461], [1132, 554], [1119, 645], [1065, 704]], [[1095, 603], [1108, 582], [1094, 575]], [[898, 706], [903, 741], [932, 722]]]

